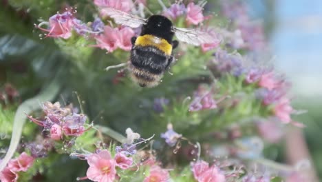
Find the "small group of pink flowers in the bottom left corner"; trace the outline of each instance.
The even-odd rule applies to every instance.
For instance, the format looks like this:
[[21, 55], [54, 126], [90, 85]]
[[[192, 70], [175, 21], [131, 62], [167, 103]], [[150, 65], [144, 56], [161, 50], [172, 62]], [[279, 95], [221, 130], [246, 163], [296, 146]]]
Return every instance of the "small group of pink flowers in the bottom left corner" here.
[[23, 152], [16, 159], [11, 159], [6, 168], [0, 172], [2, 182], [15, 182], [19, 179], [19, 172], [26, 172], [34, 163], [34, 158]]

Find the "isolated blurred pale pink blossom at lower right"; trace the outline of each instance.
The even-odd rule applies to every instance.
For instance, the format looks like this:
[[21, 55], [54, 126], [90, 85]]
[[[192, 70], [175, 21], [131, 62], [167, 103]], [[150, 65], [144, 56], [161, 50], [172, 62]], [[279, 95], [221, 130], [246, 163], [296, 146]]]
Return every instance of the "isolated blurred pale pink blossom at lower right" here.
[[283, 136], [283, 132], [275, 121], [261, 121], [257, 123], [259, 134], [270, 143], [278, 143]]

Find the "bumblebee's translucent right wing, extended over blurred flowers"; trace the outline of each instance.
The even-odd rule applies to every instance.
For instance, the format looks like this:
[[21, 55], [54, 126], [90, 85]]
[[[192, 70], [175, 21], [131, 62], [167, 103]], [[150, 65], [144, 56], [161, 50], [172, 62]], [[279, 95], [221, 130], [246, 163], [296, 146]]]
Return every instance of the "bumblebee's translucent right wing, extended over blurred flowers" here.
[[209, 32], [194, 28], [173, 28], [175, 36], [183, 42], [193, 45], [202, 43], [218, 43], [219, 39]]

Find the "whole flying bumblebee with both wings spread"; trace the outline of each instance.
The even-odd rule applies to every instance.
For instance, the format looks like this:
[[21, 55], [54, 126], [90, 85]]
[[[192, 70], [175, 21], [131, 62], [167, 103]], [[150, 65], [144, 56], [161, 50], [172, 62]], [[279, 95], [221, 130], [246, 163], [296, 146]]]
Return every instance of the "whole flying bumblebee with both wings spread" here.
[[105, 8], [103, 11], [118, 24], [131, 28], [142, 26], [140, 36], [131, 39], [128, 67], [131, 79], [141, 87], [151, 88], [158, 85], [164, 71], [169, 69], [174, 61], [172, 50], [179, 44], [178, 41], [173, 41], [174, 35], [179, 41], [193, 45], [215, 41], [213, 36], [202, 30], [175, 28], [172, 22], [162, 15], [142, 19], [113, 8]]

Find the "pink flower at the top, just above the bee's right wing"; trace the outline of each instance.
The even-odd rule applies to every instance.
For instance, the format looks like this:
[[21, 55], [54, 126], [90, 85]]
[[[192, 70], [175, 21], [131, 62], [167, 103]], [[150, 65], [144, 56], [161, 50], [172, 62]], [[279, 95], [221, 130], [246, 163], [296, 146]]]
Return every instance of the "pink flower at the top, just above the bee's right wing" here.
[[202, 14], [202, 7], [195, 5], [191, 2], [186, 7], [186, 21], [188, 24], [197, 25], [204, 21], [204, 15]]

